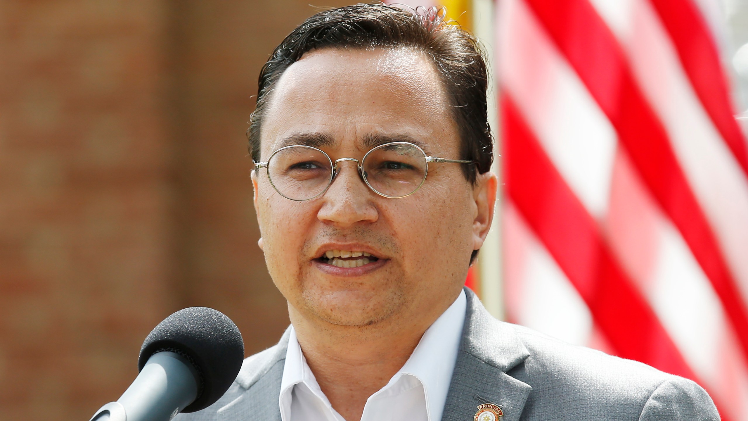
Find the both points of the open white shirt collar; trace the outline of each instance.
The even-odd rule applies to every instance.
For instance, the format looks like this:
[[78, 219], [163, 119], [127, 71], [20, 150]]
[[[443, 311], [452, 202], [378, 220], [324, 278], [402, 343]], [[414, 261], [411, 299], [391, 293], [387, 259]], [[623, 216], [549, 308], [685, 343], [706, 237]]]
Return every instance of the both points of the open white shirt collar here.
[[[450, 389], [452, 373], [455, 369], [460, 339], [462, 339], [462, 325], [465, 323], [467, 299], [465, 290], [461, 291], [452, 305], [439, 316], [438, 319], [423, 333], [411, 357], [405, 362], [385, 387], [370, 397], [373, 399], [380, 393], [389, 390], [403, 375], [411, 375], [423, 384], [426, 395], [426, 411], [429, 421], [441, 420], [447, 393]], [[307, 365], [301, 346], [298, 345], [296, 332], [291, 327], [289, 335], [286, 361], [283, 366], [283, 380], [281, 381], [281, 417], [289, 420], [291, 408], [292, 388], [295, 384], [304, 383], [322, 402], [330, 407], [311, 369]]]

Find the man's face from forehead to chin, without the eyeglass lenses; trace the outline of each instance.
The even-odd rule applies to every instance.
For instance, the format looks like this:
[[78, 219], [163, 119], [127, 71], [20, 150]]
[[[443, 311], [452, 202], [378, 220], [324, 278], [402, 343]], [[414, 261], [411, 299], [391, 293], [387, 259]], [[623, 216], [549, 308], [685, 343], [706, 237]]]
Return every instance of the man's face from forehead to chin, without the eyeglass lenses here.
[[[316, 145], [332, 160], [361, 160], [371, 139], [414, 139], [429, 156], [460, 159], [449, 103], [434, 65], [413, 49], [308, 52], [275, 85], [262, 160], [310, 138], [326, 139]], [[388, 199], [364, 184], [355, 163], [338, 165], [329, 189], [306, 202], [279, 195], [265, 170], [253, 173], [266, 263], [292, 320], [361, 326], [438, 317], [488, 231], [495, 178], [481, 175], [473, 187], [460, 168], [467, 164], [432, 163], [420, 190]], [[325, 254], [338, 251], [369, 263], [331, 264]]]

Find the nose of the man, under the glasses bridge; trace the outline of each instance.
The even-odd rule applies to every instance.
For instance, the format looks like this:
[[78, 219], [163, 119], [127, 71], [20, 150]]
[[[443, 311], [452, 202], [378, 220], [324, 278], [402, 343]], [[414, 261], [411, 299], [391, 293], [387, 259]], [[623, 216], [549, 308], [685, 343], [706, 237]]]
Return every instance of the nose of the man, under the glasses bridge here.
[[[340, 165], [348, 161], [355, 165]], [[348, 228], [360, 222], [375, 222], [379, 214], [372, 201], [374, 193], [361, 178], [358, 160], [341, 158], [335, 161], [335, 165], [337, 172], [322, 195], [324, 204], [319, 208], [317, 218], [339, 228]]]

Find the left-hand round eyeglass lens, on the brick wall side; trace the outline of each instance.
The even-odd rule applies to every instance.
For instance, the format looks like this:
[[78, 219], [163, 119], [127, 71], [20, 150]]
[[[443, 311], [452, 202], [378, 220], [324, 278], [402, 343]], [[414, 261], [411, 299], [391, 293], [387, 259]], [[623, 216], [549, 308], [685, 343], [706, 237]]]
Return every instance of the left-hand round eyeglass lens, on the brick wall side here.
[[268, 178], [275, 190], [287, 199], [314, 199], [330, 185], [332, 162], [319, 149], [289, 146], [278, 149], [270, 157]]

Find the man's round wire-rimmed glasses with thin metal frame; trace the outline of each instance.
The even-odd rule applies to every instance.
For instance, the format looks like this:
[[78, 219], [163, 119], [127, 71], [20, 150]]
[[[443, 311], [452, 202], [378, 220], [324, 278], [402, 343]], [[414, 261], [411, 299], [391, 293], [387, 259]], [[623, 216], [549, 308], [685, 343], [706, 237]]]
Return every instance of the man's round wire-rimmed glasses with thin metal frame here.
[[379, 145], [355, 158], [331, 160], [328, 154], [307, 145], [291, 145], [278, 149], [264, 163], [254, 163], [266, 169], [270, 184], [286, 199], [301, 202], [322, 196], [332, 184], [338, 163], [352, 161], [364, 183], [379, 196], [399, 199], [416, 193], [426, 181], [429, 163], [462, 163], [473, 161], [448, 160], [429, 157], [410, 142], [390, 142]]

